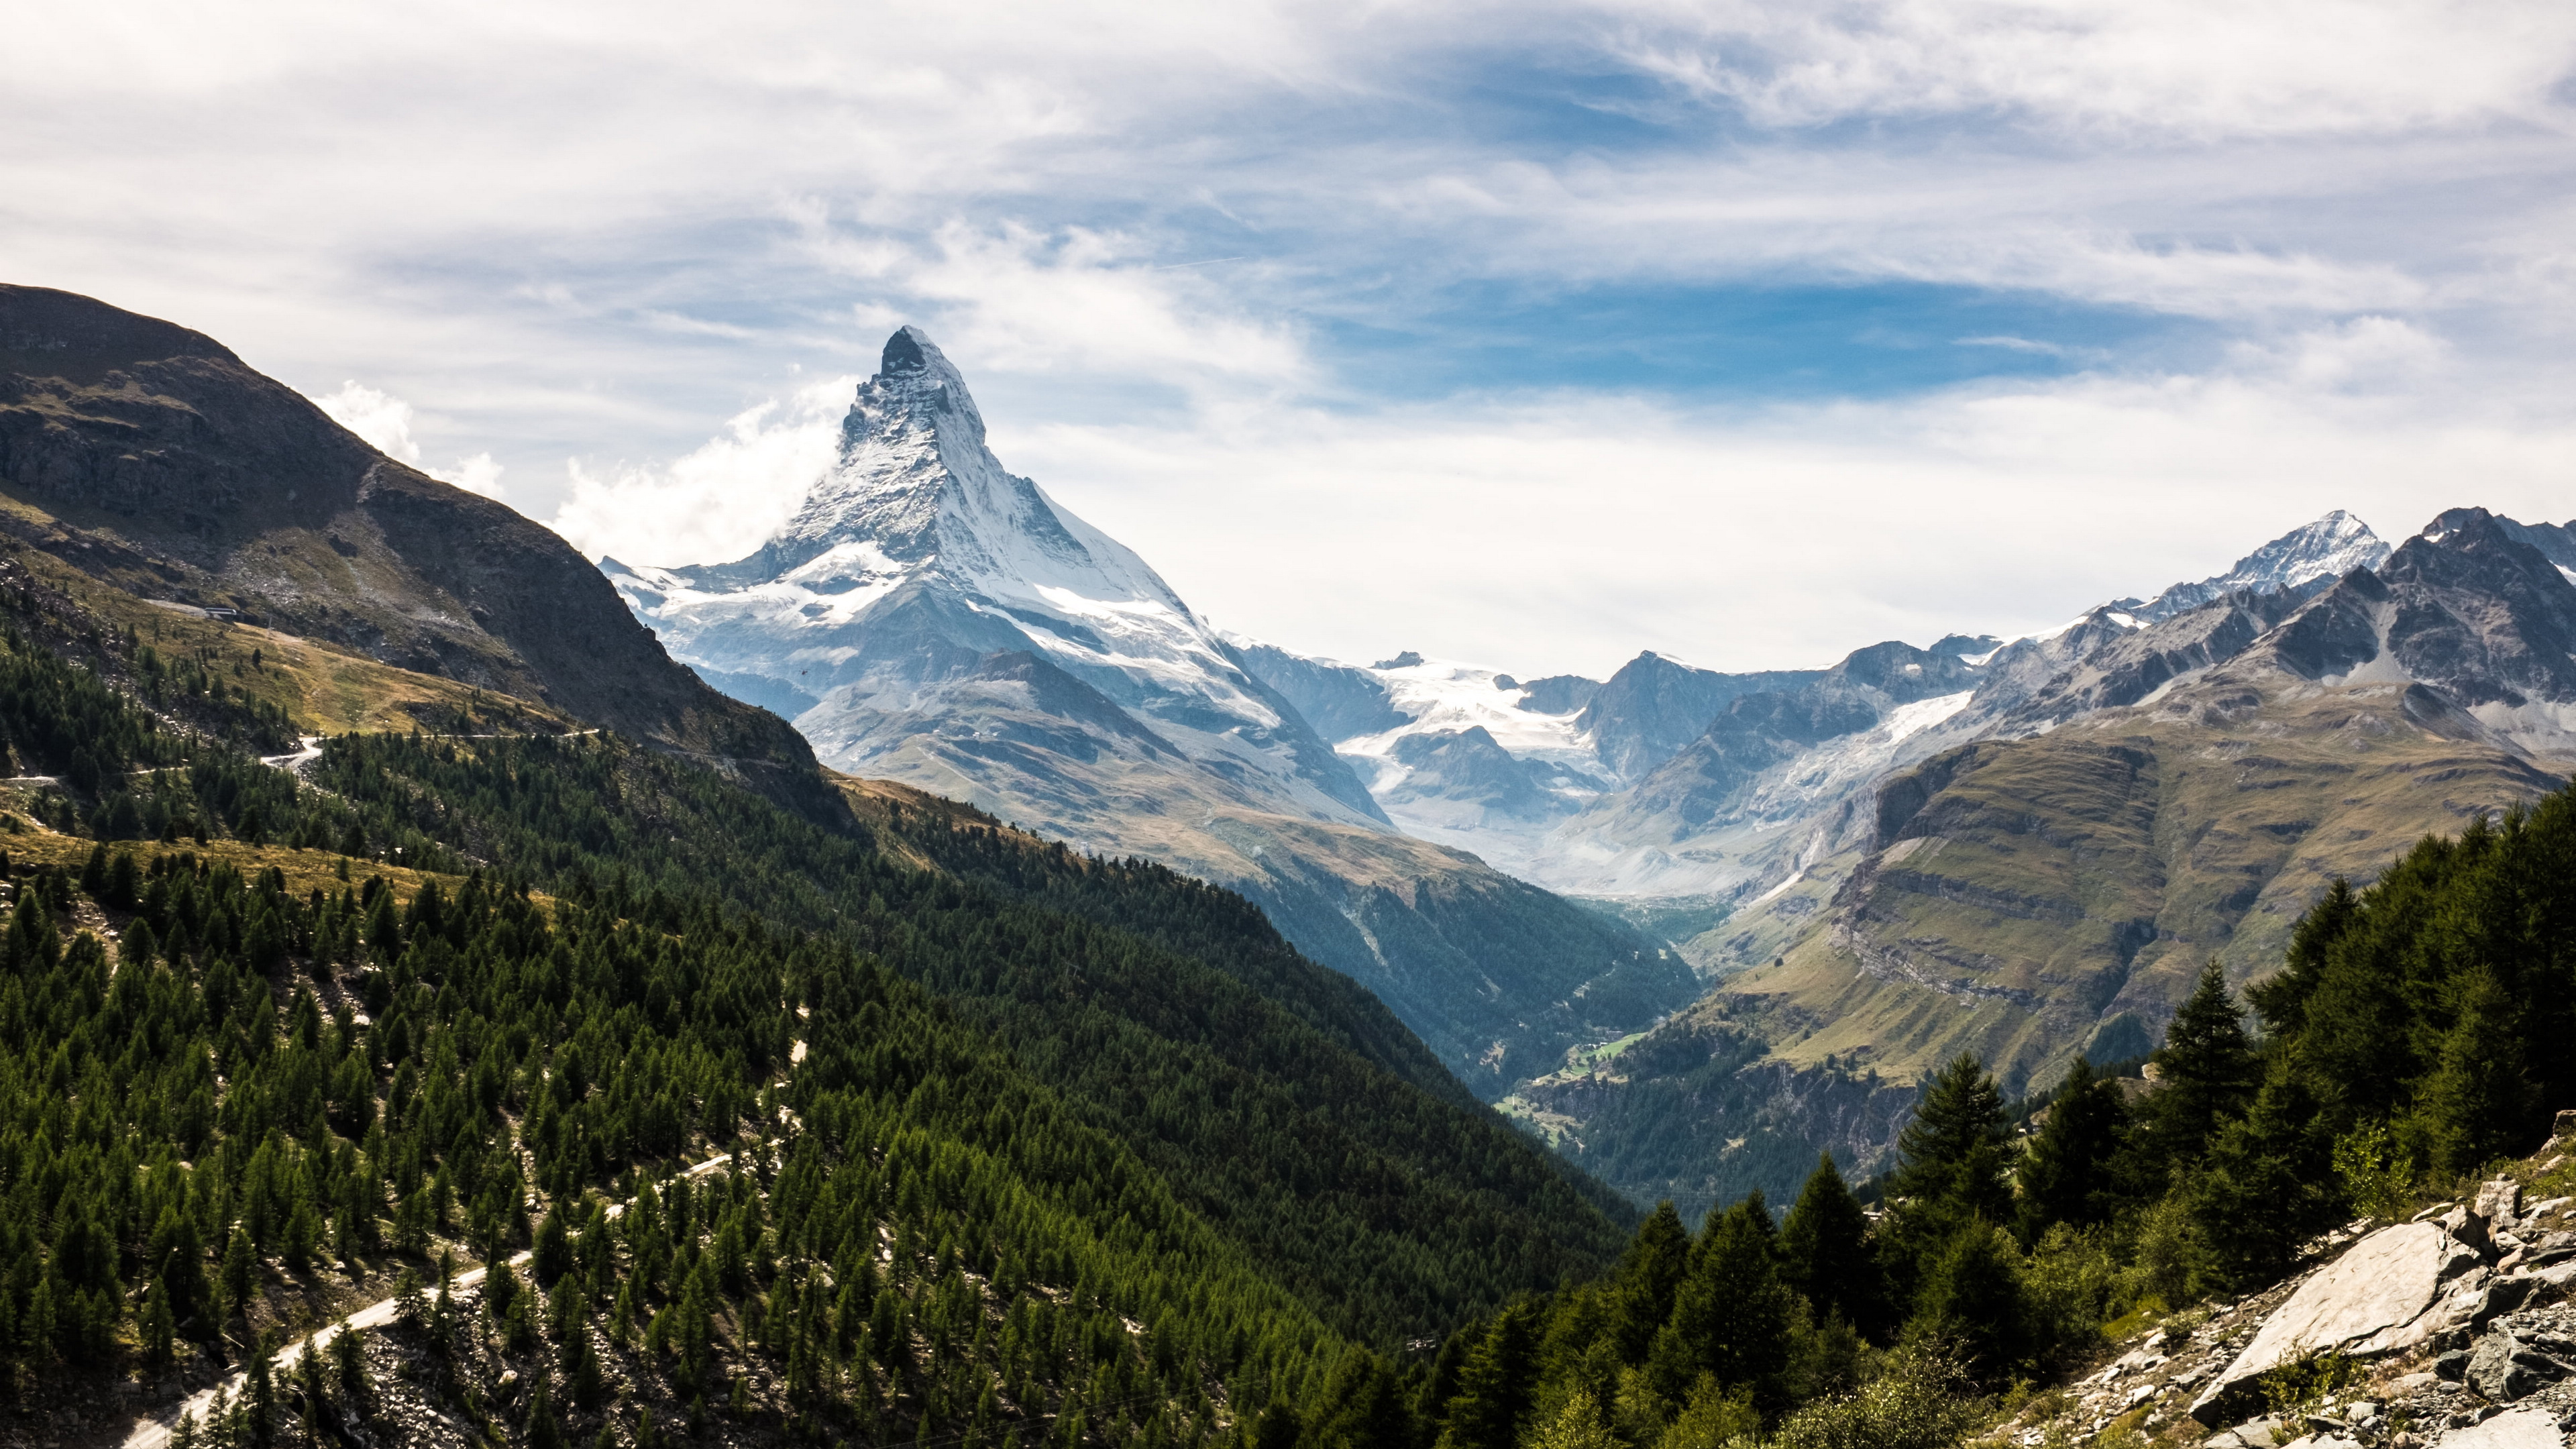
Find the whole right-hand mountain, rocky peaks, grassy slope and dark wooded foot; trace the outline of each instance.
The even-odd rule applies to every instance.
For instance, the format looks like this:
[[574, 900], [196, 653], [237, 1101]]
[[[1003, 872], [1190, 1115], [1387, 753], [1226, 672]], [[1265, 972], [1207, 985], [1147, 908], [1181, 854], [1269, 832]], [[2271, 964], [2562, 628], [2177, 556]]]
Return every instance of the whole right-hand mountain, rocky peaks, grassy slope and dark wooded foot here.
[[[2334, 877], [2566, 781], [2576, 585], [2530, 534], [2558, 539], [2455, 511], [2375, 570], [2007, 647], [1914, 763], [1793, 822], [1801, 853], [1695, 944], [1739, 975], [1633, 1065], [1507, 1106], [1613, 1181], [1651, 1163], [1631, 1191], [1723, 1199], [1790, 1181], [1744, 1127], [1837, 1140], [1814, 1104], [1839, 1083], [1965, 1049], [2025, 1091], [2143, 1055], [2202, 962], [2267, 975]], [[1718, 1098], [1736, 1127], [1677, 1152]]]

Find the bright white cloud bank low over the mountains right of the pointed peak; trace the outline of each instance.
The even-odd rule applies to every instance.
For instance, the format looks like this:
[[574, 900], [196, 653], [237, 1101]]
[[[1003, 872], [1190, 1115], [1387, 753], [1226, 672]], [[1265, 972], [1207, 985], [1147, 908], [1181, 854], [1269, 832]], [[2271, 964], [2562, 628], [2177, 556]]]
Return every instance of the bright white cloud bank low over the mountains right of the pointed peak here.
[[2388, 536], [2460, 503], [2568, 513], [2576, 423], [2481, 387], [2365, 322], [2210, 374], [1757, 413], [1577, 394], [1247, 410], [1002, 446], [1224, 627], [1600, 678], [1641, 647], [1801, 668], [2043, 629], [2329, 508]]

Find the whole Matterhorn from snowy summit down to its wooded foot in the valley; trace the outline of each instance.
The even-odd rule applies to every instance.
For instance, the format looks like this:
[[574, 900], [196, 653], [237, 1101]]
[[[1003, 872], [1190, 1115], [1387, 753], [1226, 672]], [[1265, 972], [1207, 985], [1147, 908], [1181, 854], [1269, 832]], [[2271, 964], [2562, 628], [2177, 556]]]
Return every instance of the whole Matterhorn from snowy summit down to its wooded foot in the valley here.
[[[603, 570], [708, 681], [809, 701], [796, 727], [824, 763], [1242, 890], [1486, 1096], [1695, 995], [1623, 926], [1396, 830], [1306, 709], [1368, 730], [1401, 724], [1401, 704], [1285, 655], [1252, 668], [1257, 645], [994, 459], [917, 327], [886, 340], [837, 462], [775, 539], [724, 565]], [[1479, 740], [1409, 750], [1396, 768], [1497, 810], [1553, 789], [1497, 776], [1502, 750]]]

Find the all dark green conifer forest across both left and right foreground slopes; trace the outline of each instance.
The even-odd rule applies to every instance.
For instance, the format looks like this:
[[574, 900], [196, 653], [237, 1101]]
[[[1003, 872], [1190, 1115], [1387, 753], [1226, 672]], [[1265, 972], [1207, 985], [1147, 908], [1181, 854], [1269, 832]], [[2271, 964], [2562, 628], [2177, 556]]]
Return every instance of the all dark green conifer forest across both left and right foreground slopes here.
[[[1159, 866], [613, 735], [296, 776], [222, 673], [13, 608], [5, 1387], [247, 1372], [198, 1444], [343, 1441], [384, 1372], [549, 1446], [1955, 1444], [2576, 1088], [2561, 794], [2210, 967], [2151, 1091], [1958, 1060], [1880, 1181], [1692, 1230]], [[392, 1369], [273, 1359], [379, 1299]]]

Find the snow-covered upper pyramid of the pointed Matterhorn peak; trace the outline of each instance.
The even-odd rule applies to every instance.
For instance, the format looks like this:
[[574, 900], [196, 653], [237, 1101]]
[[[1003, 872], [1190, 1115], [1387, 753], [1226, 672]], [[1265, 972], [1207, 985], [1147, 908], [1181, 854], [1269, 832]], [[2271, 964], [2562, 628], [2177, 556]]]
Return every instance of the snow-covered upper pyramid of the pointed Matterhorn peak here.
[[[920, 327], [886, 338], [837, 459], [755, 554], [603, 567], [675, 657], [791, 714], [832, 766], [871, 768], [940, 732], [925, 712], [953, 727], [966, 696], [1012, 696], [1012, 714], [1061, 717], [1038, 730], [1054, 743], [1066, 722], [1095, 735], [1087, 763], [1185, 758], [1270, 807], [1383, 828], [1350, 766], [1172, 585], [992, 456], [966, 379]], [[987, 730], [987, 750], [1012, 735]]]

